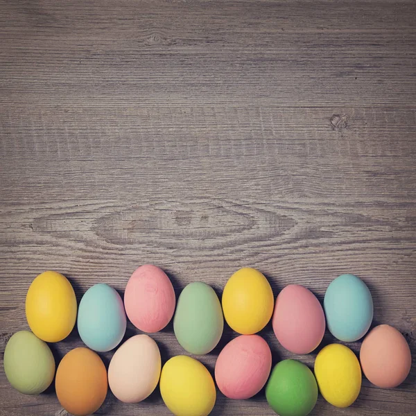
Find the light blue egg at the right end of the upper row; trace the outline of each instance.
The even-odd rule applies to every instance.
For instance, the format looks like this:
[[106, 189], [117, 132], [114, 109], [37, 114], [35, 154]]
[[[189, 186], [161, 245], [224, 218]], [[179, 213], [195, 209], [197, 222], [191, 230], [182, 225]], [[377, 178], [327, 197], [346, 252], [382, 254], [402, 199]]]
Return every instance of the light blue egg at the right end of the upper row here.
[[327, 327], [335, 338], [347, 343], [359, 340], [373, 318], [371, 293], [354, 275], [340, 275], [327, 288], [324, 297]]

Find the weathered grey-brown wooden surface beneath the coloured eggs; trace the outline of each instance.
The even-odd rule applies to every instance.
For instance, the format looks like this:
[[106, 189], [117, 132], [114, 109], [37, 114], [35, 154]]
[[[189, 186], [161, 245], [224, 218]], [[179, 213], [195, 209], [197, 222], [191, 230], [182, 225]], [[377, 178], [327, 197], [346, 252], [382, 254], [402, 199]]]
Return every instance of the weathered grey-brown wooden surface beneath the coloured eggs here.
[[[155, 263], [177, 295], [194, 280], [220, 295], [252, 266], [275, 295], [298, 283], [322, 301], [354, 273], [415, 362], [415, 58], [414, 0], [0, 0], [1, 361], [40, 272], [79, 301]], [[274, 362], [293, 356], [261, 334]], [[211, 372], [234, 336], [200, 358]], [[163, 361], [184, 353], [171, 324], [154, 338]], [[78, 345], [74, 330], [51, 348]], [[0, 364], [1, 416], [66, 414]], [[394, 390], [363, 379], [351, 408], [320, 397], [312, 415], [415, 415], [415, 381], [415, 365]], [[109, 392], [97, 414], [169, 412], [157, 389], [136, 405]], [[263, 391], [218, 394], [212, 413], [272, 414]]]

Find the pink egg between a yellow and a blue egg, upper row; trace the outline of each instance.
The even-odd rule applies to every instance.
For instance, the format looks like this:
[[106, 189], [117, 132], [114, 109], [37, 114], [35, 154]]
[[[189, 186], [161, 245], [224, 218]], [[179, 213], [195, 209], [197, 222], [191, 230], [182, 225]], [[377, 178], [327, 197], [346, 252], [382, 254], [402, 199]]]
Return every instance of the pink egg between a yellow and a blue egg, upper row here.
[[277, 296], [272, 324], [284, 348], [295, 354], [309, 354], [324, 337], [325, 315], [311, 291], [291, 284]]

